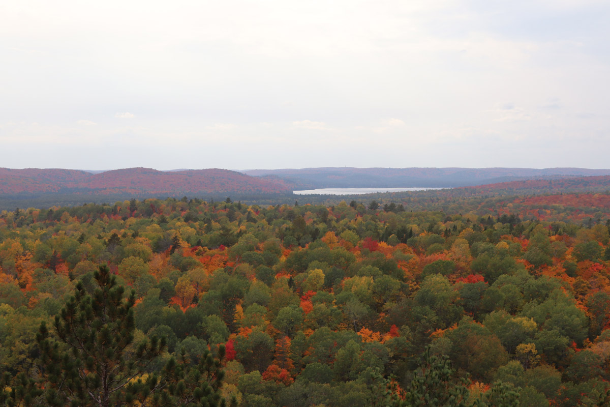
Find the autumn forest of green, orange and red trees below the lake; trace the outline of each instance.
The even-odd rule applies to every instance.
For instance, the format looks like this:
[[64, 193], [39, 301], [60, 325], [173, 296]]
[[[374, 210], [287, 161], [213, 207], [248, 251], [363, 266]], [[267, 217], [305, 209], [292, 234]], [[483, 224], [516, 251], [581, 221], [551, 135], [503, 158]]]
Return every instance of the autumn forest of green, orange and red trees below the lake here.
[[298, 199], [0, 212], [0, 403], [610, 406], [608, 193]]

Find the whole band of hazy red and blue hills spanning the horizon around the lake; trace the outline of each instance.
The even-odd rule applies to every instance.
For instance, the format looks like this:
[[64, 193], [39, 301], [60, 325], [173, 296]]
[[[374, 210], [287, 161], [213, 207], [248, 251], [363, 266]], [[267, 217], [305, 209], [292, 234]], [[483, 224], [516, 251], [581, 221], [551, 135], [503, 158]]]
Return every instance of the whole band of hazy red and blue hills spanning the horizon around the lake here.
[[[60, 168], [0, 168], [0, 207], [78, 205], [130, 198], [220, 199], [293, 203], [293, 190], [337, 187], [455, 187], [435, 196], [605, 192], [610, 170], [586, 168], [304, 168], [174, 170], [125, 168], [92, 173]], [[408, 194], [408, 193], [406, 193]], [[421, 195], [421, 194], [420, 194]], [[314, 202], [331, 195], [298, 200]], [[397, 195], [398, 196], [398, 195]], [[401, 195], [403, 196], [403, 195]], [[406, 196], [406, 195], [404, 195]]]

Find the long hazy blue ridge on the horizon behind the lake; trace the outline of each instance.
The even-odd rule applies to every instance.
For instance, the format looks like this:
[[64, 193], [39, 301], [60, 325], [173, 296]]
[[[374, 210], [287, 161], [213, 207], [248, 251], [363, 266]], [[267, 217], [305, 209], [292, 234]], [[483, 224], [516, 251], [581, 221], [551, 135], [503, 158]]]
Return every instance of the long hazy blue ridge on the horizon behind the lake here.
[[247, 175], [285, 179], [303, 189], [367, 187], [465, 187], [533, 178], [610, 175], [587, 168], [287, 168], [246, 170]]

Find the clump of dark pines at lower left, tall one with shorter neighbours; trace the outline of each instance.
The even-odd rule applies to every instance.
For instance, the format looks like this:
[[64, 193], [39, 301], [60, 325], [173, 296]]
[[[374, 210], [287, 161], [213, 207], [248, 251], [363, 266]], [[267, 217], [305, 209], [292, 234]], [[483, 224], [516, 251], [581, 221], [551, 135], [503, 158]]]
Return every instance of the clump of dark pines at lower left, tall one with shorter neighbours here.
[[[184, 349], [159, 373], [149, 366], [165, 351], [165, 339], [134, 344], [135, 291], [124, 288], [106, 265], [95, 273], [97, 287], [87, 294], [81, 283], [56, 316], [54, 334], [42, 323], [40, 380], [9, 369], [0, 375], [0, 405], [71, 407], [223, 407], [224, 372], [209, 350], [193, 364]], [[56, 338], [59, 338], [57, 340]], [[230, 406], [235, 406], [233, 398]]]

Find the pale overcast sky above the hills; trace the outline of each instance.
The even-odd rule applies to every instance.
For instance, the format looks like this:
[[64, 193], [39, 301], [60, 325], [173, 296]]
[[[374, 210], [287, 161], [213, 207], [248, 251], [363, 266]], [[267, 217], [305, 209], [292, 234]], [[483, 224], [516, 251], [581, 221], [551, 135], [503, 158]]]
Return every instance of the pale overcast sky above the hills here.
[[610, 168], [608, 0], [3, 1], [0, 167]]

